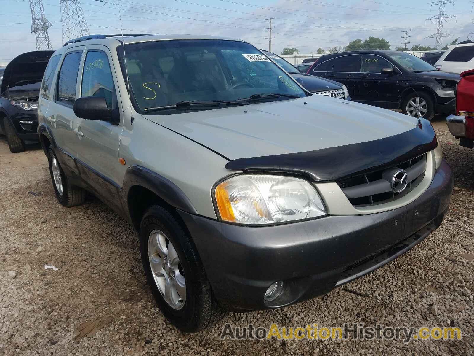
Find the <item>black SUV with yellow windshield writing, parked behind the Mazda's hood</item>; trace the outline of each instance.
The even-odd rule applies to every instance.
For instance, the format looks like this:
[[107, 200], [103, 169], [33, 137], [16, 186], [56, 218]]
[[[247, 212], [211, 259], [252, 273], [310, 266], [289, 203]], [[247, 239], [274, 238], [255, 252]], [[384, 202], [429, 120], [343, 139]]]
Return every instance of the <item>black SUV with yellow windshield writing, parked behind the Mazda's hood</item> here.
[[431, 120], [454, 112], [459, 76], [441, 72], [417, 56], [390, 50], [321, 56], [308, 74], [345, 84], [353, 101]]

